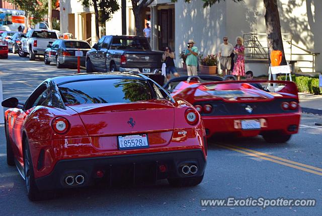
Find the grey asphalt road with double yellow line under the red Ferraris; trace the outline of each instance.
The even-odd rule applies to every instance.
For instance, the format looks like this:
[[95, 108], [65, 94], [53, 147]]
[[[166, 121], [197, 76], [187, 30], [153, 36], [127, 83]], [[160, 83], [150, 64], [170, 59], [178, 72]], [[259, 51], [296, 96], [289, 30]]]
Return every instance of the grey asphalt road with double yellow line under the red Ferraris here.
[[[75, 73], [18, 55], [0, 59], [4, 98], [24, 101], [46, 78]], [[129, 188], [66, 190], [52, 200], [31, 202], [15, 167], [6, 163], [0, 126], [0, 215], [321, 215], [322, 117], [303, 114], [301, 129], [284, 144], [262, 137], [213, 138], [203, 182], [173, 188], [167, 181]], [[203, 207], [201, 198], [313, 198], [315, 207]]]

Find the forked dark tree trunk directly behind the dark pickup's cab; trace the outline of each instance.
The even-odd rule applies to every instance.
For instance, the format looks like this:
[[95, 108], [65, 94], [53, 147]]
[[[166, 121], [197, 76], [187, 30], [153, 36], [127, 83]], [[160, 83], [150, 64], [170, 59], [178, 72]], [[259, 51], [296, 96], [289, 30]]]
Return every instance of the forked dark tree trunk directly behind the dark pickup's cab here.
[[134, 14], [136, 35], [144, 36], [143, 35], [144, 25], [142, 25], [144, 11], [153, 2], [153, 0], [131, 0], [131, 2], [132, 2], [133, 14]]

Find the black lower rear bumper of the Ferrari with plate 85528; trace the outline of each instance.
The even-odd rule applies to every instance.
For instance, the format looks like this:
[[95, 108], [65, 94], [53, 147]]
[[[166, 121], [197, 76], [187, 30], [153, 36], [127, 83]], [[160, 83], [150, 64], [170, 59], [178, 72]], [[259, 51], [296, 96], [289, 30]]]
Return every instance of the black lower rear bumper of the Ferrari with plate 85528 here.
[[[167, 170], [161, 172], [160, 165], [165, 165]], [[184, 165], [197, 166], [197, 173], [188, 175], [181, 173], [181, 168]], [[36, 179], [36, 184], [40, 190], [83, 187], [97, 181], [103, 181], [110, 185], [122, 181], [125, 184], [140, 184], [146, 181], [154, 182], [158, 179], [201, 176], [205, 167], [206, 159], [201, 149], [68, 159], [58, 161], [49, 175]], [[104, 176], [99, 178], [97, 171], [102, 171]], [[72, 185], [65, 183], [65, 177], [77, 175], [84, 176], [84, 183], [77, 184], [75, 182]]]

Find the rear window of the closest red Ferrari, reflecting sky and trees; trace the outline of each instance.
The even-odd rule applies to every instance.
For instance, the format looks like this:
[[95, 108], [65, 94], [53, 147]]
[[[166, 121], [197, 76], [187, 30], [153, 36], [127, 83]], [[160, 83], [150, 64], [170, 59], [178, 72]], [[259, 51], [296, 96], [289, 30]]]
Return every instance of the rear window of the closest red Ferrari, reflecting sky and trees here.
[[58, 88], [68, 104], [128, 103], [153, 98], [147, 81], [139, 79], [78, 81]]

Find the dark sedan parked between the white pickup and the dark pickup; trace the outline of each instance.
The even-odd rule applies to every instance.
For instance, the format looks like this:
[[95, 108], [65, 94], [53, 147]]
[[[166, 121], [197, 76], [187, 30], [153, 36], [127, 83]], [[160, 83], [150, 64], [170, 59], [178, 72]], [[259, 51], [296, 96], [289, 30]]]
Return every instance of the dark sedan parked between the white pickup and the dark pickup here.
[[90, 44], [83, 40], [58, 39], [47, 46], [48, 48], [44, 54], [44, 62], [45, 64], [55, 62], [57, 68], [61, 68], [64, 65], [77, 65], [75, 51], [78, 49], [83, 52], [81, 66], [85, 66], [86, 53], [91, 50]]

